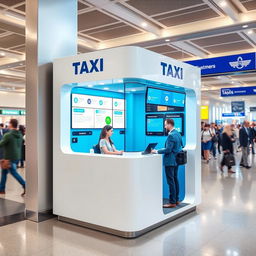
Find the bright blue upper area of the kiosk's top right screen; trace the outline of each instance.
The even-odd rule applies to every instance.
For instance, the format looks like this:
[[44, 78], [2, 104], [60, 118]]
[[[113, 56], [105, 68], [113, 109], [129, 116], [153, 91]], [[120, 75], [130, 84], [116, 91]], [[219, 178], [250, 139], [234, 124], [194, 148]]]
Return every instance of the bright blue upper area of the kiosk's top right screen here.
[[147, 103], [162, 106], [184, 107], [185, 94], [148, 88]]

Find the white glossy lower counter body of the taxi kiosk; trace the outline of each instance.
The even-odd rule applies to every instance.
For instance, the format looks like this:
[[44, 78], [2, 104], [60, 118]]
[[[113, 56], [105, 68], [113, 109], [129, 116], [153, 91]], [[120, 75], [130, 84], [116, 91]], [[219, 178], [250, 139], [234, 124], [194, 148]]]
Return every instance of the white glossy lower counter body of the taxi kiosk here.
[[64, 156], [54, 161], [53, 209], [62, 220], [132, 237], [191, 208], [163, 213], [161, 155]]

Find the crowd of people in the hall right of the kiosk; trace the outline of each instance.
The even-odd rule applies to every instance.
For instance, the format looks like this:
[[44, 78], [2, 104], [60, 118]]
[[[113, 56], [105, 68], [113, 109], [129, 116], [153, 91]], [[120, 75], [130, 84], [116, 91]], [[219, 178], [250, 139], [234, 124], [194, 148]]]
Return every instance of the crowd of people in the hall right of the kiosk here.
[[222, 172], [224, 166], [227, 166], [229, 173], [235, 172], [232, 170], [234, 155], [239, 151], [242, 152], [240, 166], [247, 169], [251, 168], [248, 163], [248, 156], [250, 152], [255, 154], [255, 142], [256, 123], [254, 122], [244, 121], [242, 124], [226, 125], [201, 122], [202, 158], [208, 164], [211, 154], [214, 159], [217, 159], [217, 153], [223, 152], [220, 163]]

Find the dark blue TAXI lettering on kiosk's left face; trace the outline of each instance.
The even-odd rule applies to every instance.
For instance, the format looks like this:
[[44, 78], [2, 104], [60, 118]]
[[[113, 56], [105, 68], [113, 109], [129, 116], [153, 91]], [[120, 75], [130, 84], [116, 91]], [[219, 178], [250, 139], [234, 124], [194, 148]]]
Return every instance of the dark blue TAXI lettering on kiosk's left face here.
[[102, 72], [103, 71], [103, 58], [94, 59], [94, 60], [84, 60], [73, 62], [72, 66], [74, 67], [75, 75], [82, 75], [94, 72]]

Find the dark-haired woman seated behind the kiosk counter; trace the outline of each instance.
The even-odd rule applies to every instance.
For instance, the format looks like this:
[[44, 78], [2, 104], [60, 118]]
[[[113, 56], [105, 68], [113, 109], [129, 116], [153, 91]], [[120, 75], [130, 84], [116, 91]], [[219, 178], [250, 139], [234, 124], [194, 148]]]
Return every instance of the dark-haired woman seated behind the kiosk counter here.
[[109, 155], [122, 155], [123, 151], [116, 150], [116, 147], [111, 140], [111, 136], [113, 134], [113, 127], [111, 125], [105, 125], [100, 134], [100, 152], [101, 154], [109, 154]]

